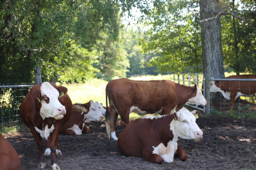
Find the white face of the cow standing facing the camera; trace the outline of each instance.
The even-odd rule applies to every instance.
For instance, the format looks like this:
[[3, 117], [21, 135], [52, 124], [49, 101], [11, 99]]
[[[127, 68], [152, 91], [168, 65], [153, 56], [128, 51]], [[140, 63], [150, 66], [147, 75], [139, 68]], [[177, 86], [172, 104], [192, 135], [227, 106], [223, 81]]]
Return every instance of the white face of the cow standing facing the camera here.
[[57, 91], [56, 88], [54, 88], [48, 82], [42, 83], [40, 90], [41, 90], [41, 96], [46, 95], [47, 97], [49, 97], [48, 104], [44, 100], [41, 101], [42, 107], [40, 108], [40, 116], [43, 118], [43, 120], [46, 117], [56, 118], [56, 116], [58, 116], [57, 108], [64, 107], [58, 100], [59, 91]]

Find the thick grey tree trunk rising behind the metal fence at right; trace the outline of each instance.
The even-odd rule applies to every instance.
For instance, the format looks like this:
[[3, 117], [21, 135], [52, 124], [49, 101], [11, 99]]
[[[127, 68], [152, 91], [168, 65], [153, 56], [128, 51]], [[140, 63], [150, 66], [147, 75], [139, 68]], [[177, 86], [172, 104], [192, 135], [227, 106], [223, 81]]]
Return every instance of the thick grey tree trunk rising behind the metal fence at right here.
[[[200, 0], [200, 19], [216, 16], [220, 12], [218, 0]], [[223, 78], [224, 66], [221, 45], [220, 18], [201, 23], [203, 70], [205, 75], [206, 113], [210, 111], [210, 78]]]

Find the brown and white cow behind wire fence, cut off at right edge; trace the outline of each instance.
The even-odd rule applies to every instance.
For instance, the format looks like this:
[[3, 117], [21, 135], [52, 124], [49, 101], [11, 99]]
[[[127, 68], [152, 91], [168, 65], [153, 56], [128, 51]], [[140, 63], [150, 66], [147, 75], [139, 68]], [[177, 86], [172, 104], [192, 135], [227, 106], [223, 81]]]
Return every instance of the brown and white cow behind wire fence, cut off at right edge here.
[[[224, 79], [256, 79], [255, 75], [232, 75]], [[256, 96], [255, 81], [230, 81], [230, 80], [210, 80], [210, 92], [221, 92], [225, 99], [230, 101], [230, 111], [234, 102], [240, 96]]]

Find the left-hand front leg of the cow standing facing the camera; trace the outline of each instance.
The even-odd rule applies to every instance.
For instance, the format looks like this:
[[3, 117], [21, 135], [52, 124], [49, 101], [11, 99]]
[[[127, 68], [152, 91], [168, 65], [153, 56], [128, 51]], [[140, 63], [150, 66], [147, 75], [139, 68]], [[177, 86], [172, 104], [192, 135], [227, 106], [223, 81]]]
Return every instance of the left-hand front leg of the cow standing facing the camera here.
[[38, 145], [38, 150], [39, 150], [38, 168], [42, 169], [42, 168], [46, 167], [46, 163], [44, 163], [44, 151], [43, 151], [44, 142], [43, 142], [40, 134], [35, 130], [35, 128], [33, 126], [30, 126], [30, 130], [36, 140], [36, 144]]

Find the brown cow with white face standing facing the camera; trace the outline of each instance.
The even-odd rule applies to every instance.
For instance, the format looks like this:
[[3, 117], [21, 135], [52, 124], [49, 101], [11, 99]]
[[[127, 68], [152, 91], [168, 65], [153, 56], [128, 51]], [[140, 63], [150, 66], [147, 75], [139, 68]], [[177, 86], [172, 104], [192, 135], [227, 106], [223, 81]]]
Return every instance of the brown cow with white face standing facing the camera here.
[[[24, 97], [20, 106], [20, 116], [36, 140], [39, 149], [38, 168], [45, 168], [43, 139], [51, 139], [51, 168], [60, 169], [56, 159], [56, 148], [61, 119], [68, 120], [72, 111], [72, 101], [68, 89], [53, 83], [35, 84]], [[64, 117], [65, 114], [65, 117]]]

